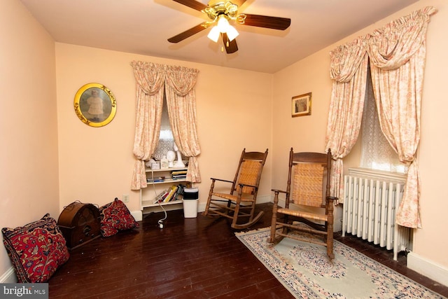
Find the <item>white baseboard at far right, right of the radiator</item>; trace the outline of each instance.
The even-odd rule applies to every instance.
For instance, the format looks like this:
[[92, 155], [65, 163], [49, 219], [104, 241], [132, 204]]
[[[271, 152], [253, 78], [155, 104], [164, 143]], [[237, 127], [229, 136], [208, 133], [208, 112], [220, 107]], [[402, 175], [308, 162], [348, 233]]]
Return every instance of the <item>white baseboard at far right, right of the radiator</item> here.
[[428, 260], [416, 253], [407, 253], [407, 267], [415, 272], [419, 272], [430, 279], [433, 279], [444, 286], [448, 286], [448, 268], [432, 260]]

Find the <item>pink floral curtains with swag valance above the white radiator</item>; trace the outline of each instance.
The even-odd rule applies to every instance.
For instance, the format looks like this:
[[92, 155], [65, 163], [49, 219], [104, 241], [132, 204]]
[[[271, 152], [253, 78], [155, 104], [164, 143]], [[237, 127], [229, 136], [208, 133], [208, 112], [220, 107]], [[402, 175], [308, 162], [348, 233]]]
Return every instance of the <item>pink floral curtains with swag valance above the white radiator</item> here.
[[381, 131], [400, 160], [409, 164], [397, 222], [410, 228], [421, 227], [415, 155], [420, 139], [426, 30], [430, 15], [436, 11], [432, 6], [414, 11], [330, 53], [330, 78], [334, 83], [325, 150], [331, 148], [336, 160], [332, 192], [343, 200], [342, 158], [358, 138], [363, 112], [363, 98], [359, 96], [365, 92], [365, 81], [359, 82], [359, 78], [367, 77], [364, 64], [368, 57]]

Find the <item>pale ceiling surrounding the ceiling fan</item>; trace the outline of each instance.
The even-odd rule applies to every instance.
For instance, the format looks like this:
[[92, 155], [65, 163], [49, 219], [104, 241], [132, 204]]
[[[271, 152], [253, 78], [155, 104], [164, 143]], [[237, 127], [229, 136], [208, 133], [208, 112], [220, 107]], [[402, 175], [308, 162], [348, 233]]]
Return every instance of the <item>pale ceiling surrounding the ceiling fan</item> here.
[[291, 25], [286, 31], [235, 25], [233, 54], [207, 39], [209, 29], [169, 43], [209, 20], [172, 0], [21, 1], [57, 42], [274, 73], [418, 0], [247, 0], [239, 13], [290, 18]]

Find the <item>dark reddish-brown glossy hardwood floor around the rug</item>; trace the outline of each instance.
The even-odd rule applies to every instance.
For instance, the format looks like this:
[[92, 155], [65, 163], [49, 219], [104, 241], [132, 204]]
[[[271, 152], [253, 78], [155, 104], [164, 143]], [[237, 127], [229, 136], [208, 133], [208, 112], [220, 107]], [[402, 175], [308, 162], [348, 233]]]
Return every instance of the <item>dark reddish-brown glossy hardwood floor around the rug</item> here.
[[[266, 214], [253, 228], [270, 225], [271, 207], [258, 206]], [[49, 281], [49, 298], [293, 298], [225, 219], [169, 211], [160, 229], [163, 217], [149, 214], [136, 230], [73, 249]], [[392, 253], [357, 238], [335, 239], [448, 296], [447, 286], [407, 269], [404, 255], [395, 262]]]

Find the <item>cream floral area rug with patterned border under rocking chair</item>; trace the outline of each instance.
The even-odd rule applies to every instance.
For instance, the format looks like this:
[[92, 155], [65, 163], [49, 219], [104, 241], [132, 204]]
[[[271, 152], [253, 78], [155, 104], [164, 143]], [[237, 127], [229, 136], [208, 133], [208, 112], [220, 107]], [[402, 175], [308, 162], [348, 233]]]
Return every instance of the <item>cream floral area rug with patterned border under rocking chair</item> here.
[[336, 240], [330, 262], [324, 246], [269, 244], [270, 228], [236, 235], [296, 298], [444, 298]]

